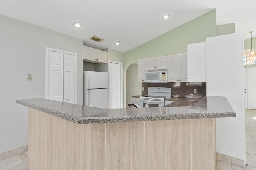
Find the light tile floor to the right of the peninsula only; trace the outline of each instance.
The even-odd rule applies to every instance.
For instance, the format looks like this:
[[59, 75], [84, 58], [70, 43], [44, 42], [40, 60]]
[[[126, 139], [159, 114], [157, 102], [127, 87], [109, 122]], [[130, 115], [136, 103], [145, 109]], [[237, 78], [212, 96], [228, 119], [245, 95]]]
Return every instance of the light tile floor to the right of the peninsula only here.
[[217, 161], [217, 170], [256, 170], [256, 110], [245, 109], [246, 164], [245, 168]]

